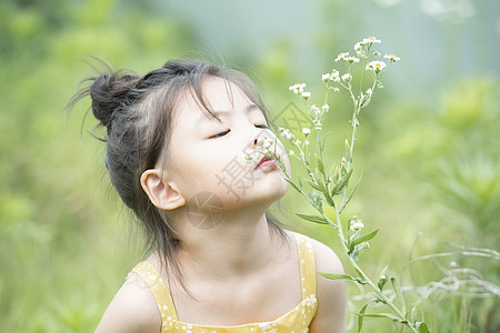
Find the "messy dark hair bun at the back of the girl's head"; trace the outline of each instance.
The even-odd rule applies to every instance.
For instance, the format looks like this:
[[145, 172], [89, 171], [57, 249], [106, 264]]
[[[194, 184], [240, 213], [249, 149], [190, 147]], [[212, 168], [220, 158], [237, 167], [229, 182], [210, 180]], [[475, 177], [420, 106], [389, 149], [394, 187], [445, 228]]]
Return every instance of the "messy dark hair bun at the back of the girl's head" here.
[[123, 104], [131, 101], [130, 90], [139, 80], [138, 75], [118, 73], [101, 74], [89, 88], [92, 99], [92, 113], [108, 129]]

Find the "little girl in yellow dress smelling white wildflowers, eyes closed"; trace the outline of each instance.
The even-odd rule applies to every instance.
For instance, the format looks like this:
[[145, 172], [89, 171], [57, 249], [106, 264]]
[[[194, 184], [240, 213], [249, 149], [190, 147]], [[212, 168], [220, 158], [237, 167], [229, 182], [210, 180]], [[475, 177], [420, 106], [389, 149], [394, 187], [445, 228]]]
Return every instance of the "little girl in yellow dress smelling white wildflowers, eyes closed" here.
[[111, 182], [150, 250], [97, 332], [346, 331], [346, 286], [317, 273], [342, 273], [337, 255], [267, 214], [289, 183], [259, 140], [290, 165], [248, 77], [169, 61], [90, 80], [77, 100], [108, 130]]

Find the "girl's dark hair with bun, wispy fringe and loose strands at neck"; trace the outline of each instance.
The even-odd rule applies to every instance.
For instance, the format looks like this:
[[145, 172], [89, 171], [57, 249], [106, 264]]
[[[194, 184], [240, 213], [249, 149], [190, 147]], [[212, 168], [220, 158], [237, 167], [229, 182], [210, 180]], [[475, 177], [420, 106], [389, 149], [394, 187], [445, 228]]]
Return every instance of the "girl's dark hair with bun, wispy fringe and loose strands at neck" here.
[[[142, 222], [147, 251], [159, 251], [162, 264], [182, 282], [176, 250], [179, 240], [164, 214], [143, 191], [140, 178], [162, 158], [172, 127], [172, 111], [184, 92], [193, 95], [208, 117], [217, 118], [202, 92], [203, 80], [218, 77], [238, 85], [268, 120], [267, 110], [254, 83], [242, 72], [196, 61], [169, 61], [141, 77], [129, 71], [112, 71], [89, 78], [91, 84], [79, 91], [70, 105], [90, 94], [93, 115], [107, 128], [107, 165], [111, 183], [124, 204]], [[167, 152], [168, 154], [168, 152]], [[168, 157], [164, 157], [168, 158]], [[267, 213], [271, 230], [284, 235], [279, 222]], [[184, 286], [186, 289], [186, 286]]]

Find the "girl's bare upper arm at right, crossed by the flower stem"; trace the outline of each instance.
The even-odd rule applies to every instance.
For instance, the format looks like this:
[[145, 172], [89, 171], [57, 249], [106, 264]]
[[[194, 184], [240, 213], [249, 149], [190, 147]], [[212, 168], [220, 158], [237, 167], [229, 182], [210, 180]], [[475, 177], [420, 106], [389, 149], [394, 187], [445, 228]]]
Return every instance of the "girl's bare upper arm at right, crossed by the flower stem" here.
[[[337, 254], [327, 245], [312, 240], [316, 271], [342, 274], [343, 268]], [[317, 273], [318, 312], [312, 320], [310, 333], [344, 333], [346, 327], [346, 282], [329, 280]]]

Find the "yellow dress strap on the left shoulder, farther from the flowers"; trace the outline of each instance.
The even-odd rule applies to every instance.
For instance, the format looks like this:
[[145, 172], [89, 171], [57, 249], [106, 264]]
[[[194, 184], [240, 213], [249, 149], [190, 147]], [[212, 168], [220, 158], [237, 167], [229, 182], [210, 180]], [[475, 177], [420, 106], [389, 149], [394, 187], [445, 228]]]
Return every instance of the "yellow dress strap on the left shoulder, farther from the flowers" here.
[[172, 297], [167, 289], [167, 284], [164, 284], [163, 279], [154, 266], [148, 261], [142, 261], [132, 270], [132, 272], [138, 273], [144, 280], [154, 295], [158, 303], [158, 309], [160, 310], [162, 323], [166, 321], [177, 321], [177, 313], [176, 307], [173, 306]]

